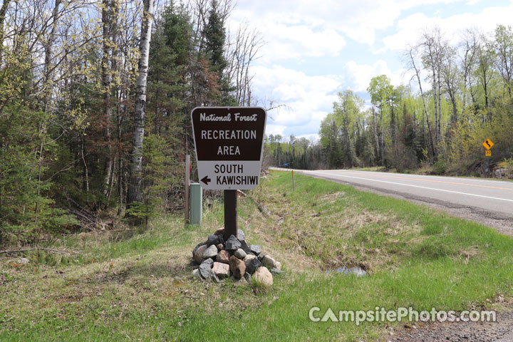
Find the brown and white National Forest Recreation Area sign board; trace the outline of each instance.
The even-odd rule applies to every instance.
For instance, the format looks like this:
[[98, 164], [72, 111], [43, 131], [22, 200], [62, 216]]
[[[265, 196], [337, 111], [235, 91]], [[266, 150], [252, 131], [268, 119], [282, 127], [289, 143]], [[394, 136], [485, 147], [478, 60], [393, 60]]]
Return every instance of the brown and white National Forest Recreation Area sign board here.
[[259, 107], [192, 110], [199, 183], [205, 190], [257, 187], [266, 117]]

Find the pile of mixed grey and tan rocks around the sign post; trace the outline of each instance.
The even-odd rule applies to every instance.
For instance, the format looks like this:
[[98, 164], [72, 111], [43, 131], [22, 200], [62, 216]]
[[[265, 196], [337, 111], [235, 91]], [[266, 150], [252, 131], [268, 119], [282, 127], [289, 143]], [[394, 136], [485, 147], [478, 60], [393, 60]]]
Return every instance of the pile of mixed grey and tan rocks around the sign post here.
[[199, 265], [192, 271], [194, 276], [215, 282], [232, 277], [236, 285], [251, 283], [254, 279], [271, 286], [272, 274], [284, 273], [281, 263], [262, 252], [259, 245], [247, 244], [241, 229], [237, 229], [237, 237], [230, 235], [226, 241], [223, 235], [224, 229], [217, 230], [192, 251], [192, 258]]

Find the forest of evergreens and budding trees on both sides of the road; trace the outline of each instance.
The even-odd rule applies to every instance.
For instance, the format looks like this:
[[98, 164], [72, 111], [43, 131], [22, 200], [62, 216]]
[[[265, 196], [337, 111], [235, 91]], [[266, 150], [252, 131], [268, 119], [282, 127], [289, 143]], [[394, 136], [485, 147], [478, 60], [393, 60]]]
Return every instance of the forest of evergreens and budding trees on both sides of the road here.
[[[229, 31], [235, 6], [2, 2], [0, 245], [183, 209], [192, 108], [279, 106], [252, 93], [251, 66], [264, 41], [247, 24]], [[403, 63], [413, 86], [376, 75], [372, 105], [344, 90], [318, 140], [266, 136], [265, 165], [452, 175], [513, 168], [510, 26], [468, 29], [457, 44], [426, 29], [405, 46]], [[486, 138], [495, 143], [490, 158]]]

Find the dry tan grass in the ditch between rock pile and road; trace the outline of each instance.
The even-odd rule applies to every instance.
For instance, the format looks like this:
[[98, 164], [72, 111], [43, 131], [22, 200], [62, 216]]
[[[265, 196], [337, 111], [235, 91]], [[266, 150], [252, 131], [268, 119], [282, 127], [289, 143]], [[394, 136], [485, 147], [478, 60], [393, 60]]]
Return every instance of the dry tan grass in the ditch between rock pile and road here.
[[[368, 271], [393, 268], [400, 242], [414, 237], [415, 243], [423, 240], [418, 237], [418, 224], [408, 224], [391, 211], [363, 209], [344, 191], [296, 199], [264, 184], [256, 194], [261, 204], [273, 210], [264, 219], [248, 201], [245, 223], [261, 244], [273, 249], [294, 271], [332, 269], [343, 264]], [[369, 248], [375, 237], [380, 238], [379, 244]]]

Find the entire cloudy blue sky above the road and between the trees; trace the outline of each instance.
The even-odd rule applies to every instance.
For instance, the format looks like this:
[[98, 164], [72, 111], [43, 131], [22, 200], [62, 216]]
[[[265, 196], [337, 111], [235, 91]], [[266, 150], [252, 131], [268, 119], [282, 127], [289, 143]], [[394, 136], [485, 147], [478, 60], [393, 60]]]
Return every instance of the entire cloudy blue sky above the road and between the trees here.
[[315, 138], [340, 91], [368, 100], [373, 76], [408, 84], [401, 52], [426, 28], [457, 43], [466, 28], [513, 25], [513, 0], [239, 0], [229, 27], [247, 23], [266, 44], [252, 67], [254, 95], [286, 105], [266, 133]]

